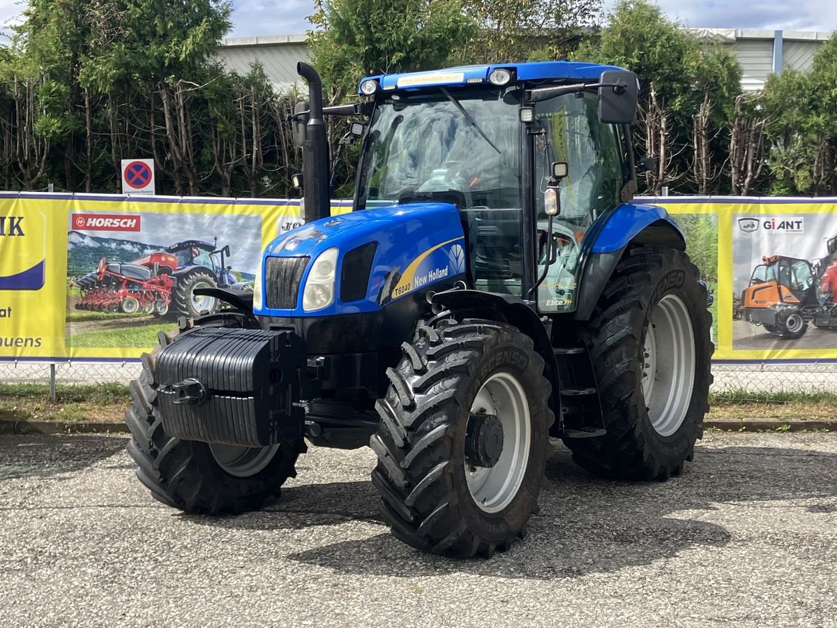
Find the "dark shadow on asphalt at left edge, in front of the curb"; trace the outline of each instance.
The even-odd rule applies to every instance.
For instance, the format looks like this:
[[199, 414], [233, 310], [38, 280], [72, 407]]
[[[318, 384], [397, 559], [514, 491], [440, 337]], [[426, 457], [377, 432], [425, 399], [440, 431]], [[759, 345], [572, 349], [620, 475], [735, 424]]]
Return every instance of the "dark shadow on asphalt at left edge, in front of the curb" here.
[[124, 449], [111, 436], [0, 435], [0, 481], [78, 471]]

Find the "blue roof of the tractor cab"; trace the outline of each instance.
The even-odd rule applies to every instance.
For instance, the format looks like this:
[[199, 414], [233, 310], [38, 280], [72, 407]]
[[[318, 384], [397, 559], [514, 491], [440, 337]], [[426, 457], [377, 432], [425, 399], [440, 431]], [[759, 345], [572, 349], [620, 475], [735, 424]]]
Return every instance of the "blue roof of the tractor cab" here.
[[[488, 84], [488, 75], [495, 69], [509, 69], [514, 80], [598, 80], [608, 69], [624, 69], [615, 65], [590, 64], [578, 61], [539, 61], [523, 64], [465, 65], [395, 75], [367, 76], [364, 81], [377, 80], [384, 91], [409, 90], [431, 85]], [[490, 84], [489, 84], [490, 85]], [[360, 85], [357, 93], [362, 94]]]

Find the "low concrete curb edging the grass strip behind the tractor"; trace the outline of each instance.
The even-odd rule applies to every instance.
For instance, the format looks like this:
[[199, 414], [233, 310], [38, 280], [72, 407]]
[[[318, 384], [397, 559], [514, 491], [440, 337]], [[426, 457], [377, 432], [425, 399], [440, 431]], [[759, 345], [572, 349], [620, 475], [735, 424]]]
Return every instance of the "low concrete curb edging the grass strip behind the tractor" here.
[[[788, 427], [784, 427], [788, 425]], [[724, 432], [757, 431], [837, 431], [837, 421], [806, 419], [712, 419], [703, 423], [706, 429]], [[127, 434], [128, 426], [119, 422], [13, 421], [0, 420], [0, 434]]]

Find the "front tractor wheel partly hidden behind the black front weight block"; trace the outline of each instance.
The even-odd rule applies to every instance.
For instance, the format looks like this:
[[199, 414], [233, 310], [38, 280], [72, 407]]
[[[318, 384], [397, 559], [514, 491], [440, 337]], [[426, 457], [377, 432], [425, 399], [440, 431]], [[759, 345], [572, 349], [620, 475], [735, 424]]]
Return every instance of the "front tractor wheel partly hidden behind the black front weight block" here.
[[210, 515], [254, 510], [264, 499], [278, 496], [285, 481], [296, 476], [296, 458], [306, 451], [305, 441], [257, 449], [168, 435], [157, 403], [155, 362], [162, 347], [191, 328], [191, 321], [181, 319], [179, 331], [160, 332], [160, 344], [143, 354], [140, 378], [129, 387], [128, 453], [136, 462], [137, 478], [167, 506]]

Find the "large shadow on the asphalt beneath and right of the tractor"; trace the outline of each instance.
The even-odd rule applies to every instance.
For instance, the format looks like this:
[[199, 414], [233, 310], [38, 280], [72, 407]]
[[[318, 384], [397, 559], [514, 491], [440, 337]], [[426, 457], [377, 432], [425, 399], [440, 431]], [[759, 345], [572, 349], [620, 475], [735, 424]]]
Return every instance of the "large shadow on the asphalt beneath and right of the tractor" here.
[[[766, 502], [837, 495], [837, 456], [768, 447], [700, 447], [683, 476], [660, 483], [603, 481], [552, 452], [541, 512], [524, 543], [493, 559], [455, 561], [419, 553], [398, 542], [377, 516], [369, 482], [336, 482], [286, 489], [280, 502], [242, 517], [202, 519], [208, 525], [259, 530], [300, 529], [347, 521], [377, 523], [381, 533], [291, 553], [288, 558], [350, 574], [416, 578], [445, 573], [553, 579], [650, 564], [696, 546], [730, 542], [726, 528], [701, 520], [721, 503]], [[831, 512], [810, 503], [806, 512]]]

